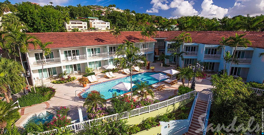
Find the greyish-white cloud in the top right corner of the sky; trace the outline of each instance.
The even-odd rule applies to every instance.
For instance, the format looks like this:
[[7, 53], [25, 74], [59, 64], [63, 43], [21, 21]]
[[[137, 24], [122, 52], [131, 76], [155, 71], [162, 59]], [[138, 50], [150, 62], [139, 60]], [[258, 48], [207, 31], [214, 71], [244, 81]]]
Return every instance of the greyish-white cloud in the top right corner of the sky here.
[[256, 16], [264, 13], [264, 0], [236, 0], [234, 6], [229, 8], [228, 14], [233, 17], [236, 15], [250, 14]]

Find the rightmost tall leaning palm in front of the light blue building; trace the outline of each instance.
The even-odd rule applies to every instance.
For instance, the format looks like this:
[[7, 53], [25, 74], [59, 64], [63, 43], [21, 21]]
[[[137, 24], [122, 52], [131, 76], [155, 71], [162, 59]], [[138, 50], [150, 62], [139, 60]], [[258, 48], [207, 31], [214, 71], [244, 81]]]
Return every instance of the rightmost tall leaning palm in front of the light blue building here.
[[247, 45], [251, 45], [252, 43], [246, 39], [246, 38], [242, 38], [243, 36], [245, 36], [246, 34], [241, 34], [241, 35], [238, 35], [236, 33], [235, 36], [231, 36], [228, 38], [229, 40], [229, 45], [233, 48], [235, 48], [235, 50], [233, 51], [233, 57], [232, 57], [232, 62], [230, 63], [230, 69], [229, 69], [229, 74], [230, 75], [230, 72], [231, 72], [231, 68], [232, 68], [232, 63], [234, 61], [234, 57], [236, 55], [236, 49], [237, 47], [244, 47], [244, 48], [247, 48]]

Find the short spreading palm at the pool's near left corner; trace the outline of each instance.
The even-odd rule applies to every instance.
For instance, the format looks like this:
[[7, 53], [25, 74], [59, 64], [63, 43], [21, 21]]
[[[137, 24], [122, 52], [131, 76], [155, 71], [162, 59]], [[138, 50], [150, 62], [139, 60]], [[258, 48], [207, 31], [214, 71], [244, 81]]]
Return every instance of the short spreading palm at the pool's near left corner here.
[[87, 111], [89, 112], [92, 108], [97, 108], [98, 105], [104, 106], [106, 103], [106, 99], [104, 96], [97, 91], [91, 91], [84, 102], [84, 107], [87, 107]]

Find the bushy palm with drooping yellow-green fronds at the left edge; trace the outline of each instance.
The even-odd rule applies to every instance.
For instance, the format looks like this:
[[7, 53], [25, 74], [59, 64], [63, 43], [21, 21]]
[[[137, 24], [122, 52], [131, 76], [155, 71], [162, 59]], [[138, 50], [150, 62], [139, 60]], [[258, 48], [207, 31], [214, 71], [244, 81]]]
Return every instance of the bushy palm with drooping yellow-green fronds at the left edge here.
[[26, 86], [21, 72], [25, 70], [17, 61], [0, 58], [0, 93], [5, 95], [7, 103], [10, 102], [11, 90], [21, 91]]

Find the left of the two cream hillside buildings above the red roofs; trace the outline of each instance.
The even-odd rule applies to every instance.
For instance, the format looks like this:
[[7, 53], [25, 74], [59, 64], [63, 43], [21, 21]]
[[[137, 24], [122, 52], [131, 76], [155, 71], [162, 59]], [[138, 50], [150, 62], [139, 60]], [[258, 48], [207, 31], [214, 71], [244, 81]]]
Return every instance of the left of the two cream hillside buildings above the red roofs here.
[[65, 29], [71, 30], [73, 28], [78, 28], [79, 30], [87, 29], [87, 23], [80, 20], [70, 20], [69, 24], [64, 22]]

